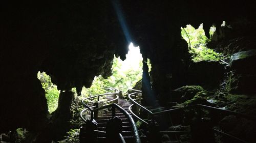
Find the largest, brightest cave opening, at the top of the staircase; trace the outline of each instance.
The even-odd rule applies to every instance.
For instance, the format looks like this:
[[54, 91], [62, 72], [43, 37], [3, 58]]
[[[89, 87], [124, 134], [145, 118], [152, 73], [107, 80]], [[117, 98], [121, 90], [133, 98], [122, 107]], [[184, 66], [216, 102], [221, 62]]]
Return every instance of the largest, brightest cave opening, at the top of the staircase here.
[[[90, 95], [103, 94], [105, 90], [102, 87], [131, 89], [135, 85], [139, 86], [142, 78], [142, 60], [139, 46], [135, 47], [133, 43], [130, 43], [129, 51], [124, 61], [120, 58], [114, 58], [112, 66], [113, 75], [107, 79], [104, 79], [101, 75], [95, 76], [91, 88], [83, 87], [81, 95], [88, 97]], [[148, 64], [150, 64], [149, 60]]]

